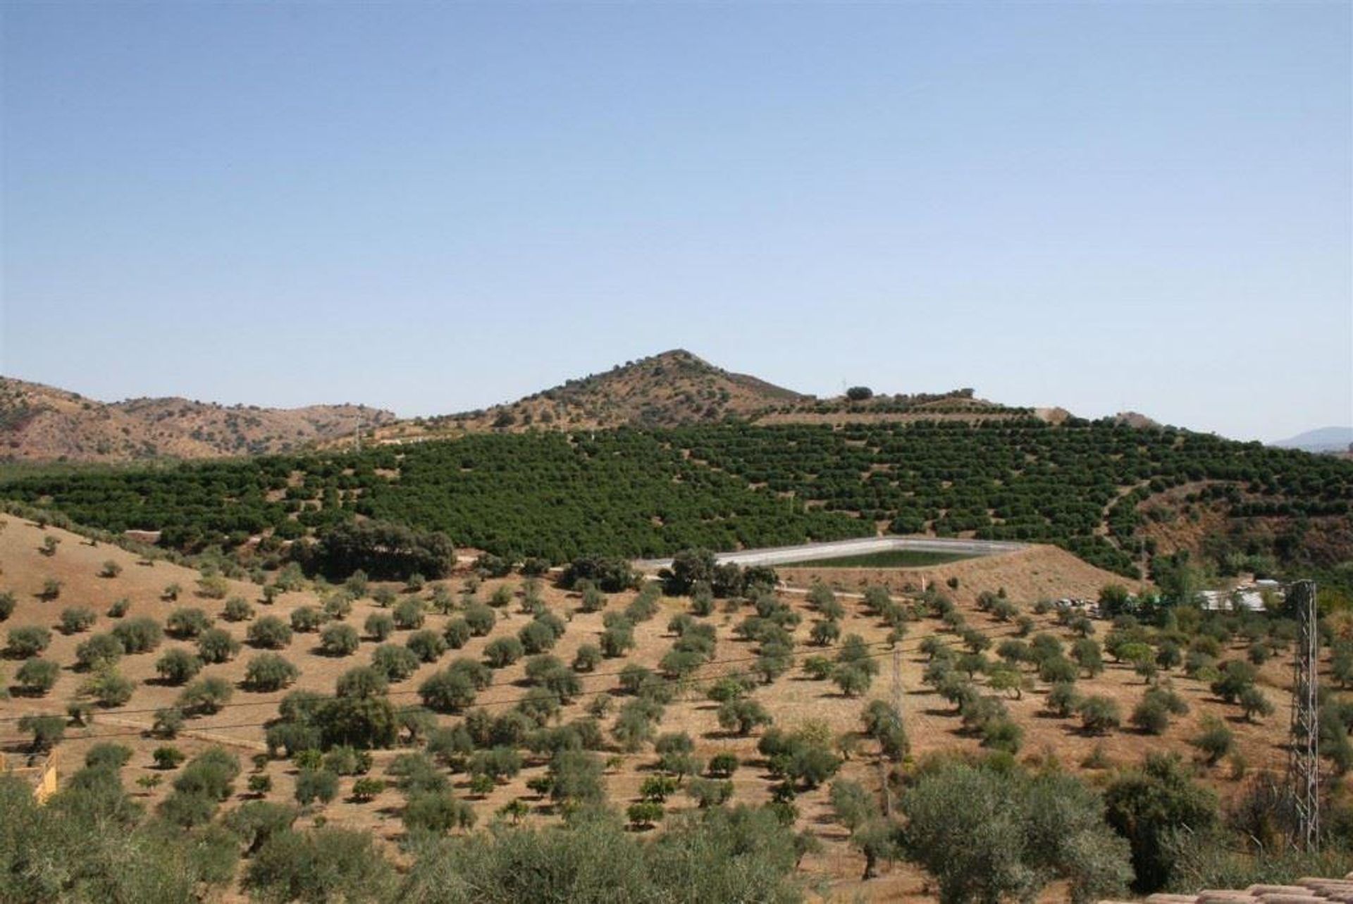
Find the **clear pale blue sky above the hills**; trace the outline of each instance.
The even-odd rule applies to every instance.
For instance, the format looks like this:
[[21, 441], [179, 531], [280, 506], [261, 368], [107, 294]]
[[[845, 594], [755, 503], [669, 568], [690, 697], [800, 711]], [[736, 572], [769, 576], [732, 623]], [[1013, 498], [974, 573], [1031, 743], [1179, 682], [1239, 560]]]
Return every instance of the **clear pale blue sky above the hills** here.
[[1350, 7], [5, 4], [0, 372], [1353, 422]]

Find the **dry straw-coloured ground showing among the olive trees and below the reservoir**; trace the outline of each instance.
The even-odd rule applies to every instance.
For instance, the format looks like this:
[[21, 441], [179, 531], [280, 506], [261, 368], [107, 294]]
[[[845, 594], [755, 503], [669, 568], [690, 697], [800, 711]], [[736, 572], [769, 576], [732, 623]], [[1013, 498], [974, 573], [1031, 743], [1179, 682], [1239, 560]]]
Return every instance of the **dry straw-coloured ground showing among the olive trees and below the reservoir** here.
[[[130, 609], [126, 617], [149, 616], [164, 624], [165, 618], [177, 608], [196, 606], [216, 618], [216, 627], [231, 632], [238, 640], [245, 640], [249, 623], [229, 623], [222, 620], [221, 610], [225, 598], [204, 598], [195, 593], [200, 575], [189, 568], [179, 567], [166, 562], [138, 562], [137, 556], [106, 544], [89, 545], [83, 537], [57, 529], [42, 529], [32, 522], [15, 516], [3, 516], [4, 529], [0, 530], [0, 590], [12, 591], [16, 597], [14, 614], [0, 625], [0, 631], [14, 629], [22, 625], [42, 625], [51, 629], [51, 646], [43, 654], [45, 658], [61, 664], [61, 677], [53, 690], [42, 697], [11, 696], [9, 700], [0, 701], [0, 746], [9, 755], [22, 759], [27, 750], [27, 738], [18, 731], [16, 721], [26, 713], [65, 712], [66, 702], [78, 693], [84, 675], [73, 666], [76, 662], [76, 647], [89, 633], [106, 632], [115, 620], [107, 612], [110, 605], [119, 598], [130, 600]], [[54, 555], [45, 555], [41, 549], [45, 537], [55, 537], [60, 543]], [[120, 566], [116, 577], [100, 577], [106, 562]], [[457, 575], [448, 582], [455, 595], [460, 594], [468, 575]], [[877, 618], [866, 617], [862, 613], [858, 593], [869, 583], [889, 585], [894, 594], [904, 594], [909, 589], [919, 589], [921, 581], [930, 585], [947, 583], [957, 578], [958, 586], [950, 593], [958, 608], [967, 617], [967, 624], [986, 632], [996, 643], [1015, 632], [1015, 627], [1008, 623], [999, 623], [976, 606], [977, 594], [982, 590], [997, 590], [1005, 587], [1009, 597], [1020, 604], [1024, 613], [1031, 613], [1032, 602], [1040, 597], [1063, 595], [1095, 595], [1099, 589], [1115, 581], [1120, 581], [1107, 572], [1099, 571], [1069, 553], [1051, 548], [1032, 548], [1022, 553], [1009, 556], [973, 559], [916, 570], [846, 570], [846, 568], [805, 568], [796, 567], [782, 572], [782, 579], [789, 587], [806, 587], [815, 579], [835, 583], [840, 589], [840, 601], [846, 608], [842, 621], [843, 635], [858, 633], [867, 643], [874, 644], [881, 664], [879, 675], [873, 682], [865, 697], [846, 697], [838, 693], [831, 682], [812, 681], [797, 667], [804, 656], [821, 652], [808, 641], [812, 625], [810, 612], [806, 608], [805, 595], [800, 591], [786, 590], [781, 595], [793, 608], [802, 610], [804, 618], [794, 629], [796, 637], [796, 667], [774, 681], [754, 692], [755, 700], [760, 701], [774, 717], [775, 725], [796, 727], [806, 721], [824, 723], [836, 735], [858, 731], [859, 716], [866, 701], [871, 697], [888, 698], [892, 693], [894, 658], [882, 643], [888, 635], [888, 628]], [[61, 582], [61, 593], [57, 600], [43, 601], [39, 598], [43, 583], [49, 578]], [[479, 589], [480, 600], [488, 595], [502, 583], [509, 583], [514, 589], [520, 587], [520, 578], [486, 581]], [[184, 590], [177, 601], [166, 601], [162, 591], [168, 585], [177, 583]], [[422, 591], [428, 597], [432, 587]], [[552, 651], [564, 663], [572, 660], [574, 652], [583, 643], [595, 643], [602, 631], [602, 613], [582, 613], [576, 594], [566, 593], [545, 582], [543, 589], [548, 608], [567, 620], [567, 631]], [[260, 587], [246, 582], [230, 582], [227, 597], [244, 597], [254, 605], [257, 613], [277, 614], [284, 620], [299, 606], [319, 606], [321, 600], [314, 591], [287, 593], [272, 605], [261, 602]], [[607, 610], [624, 608], [633, 593], [614, 594], [607, 601]], [[97, 618], [89, 632], [64, 635], [57, 628], [60, 614], [68, 606], [89, 606], [97, 613]], [[656, 617], [640, 623], [636, 627], [636, 648], [624, 659], [602, 660], [595, 674], [582, 675], [583, 694], [572, 704], [564, 706], [563, 719], [582, 716], [589, 702], [601, 693], [616, 694], [620, 700], [617, 686], [617, 673], [628, 663], [641, 663], [656, 667], [658, 660], [672, 644], [672, 635], [667, 632], [668, 618], [681, 612], [690, 610], [690, 601], [686, 598], [663, 598], [660, 612]], [[380, 610], [368, 597], [359, 600], [346, 623], [361, 631], [367, 617]], [[515, 602], [498, 609], [499, 620], [494, 631], [486, 637], [472, 637], [464, 648], [449, 651], [440, 663], [425, 663], [417, 674], [406, 681], [391, 686], [391, 698], [396, 704], [417, 704], [415, 689], [432, 673], [445, 666], [452, 658], [471, 656], [482, 658], [484, 646], [494, 637], [515, 633], [530, 618], [522, 614]], [[756, 752], [758, 736], [750, 738], [728, 736], [720, 729], [716, 720], [716, 705], [712, 704], [700, 686], [708, 681], [741, 670], [750, 666], [754, 656], [754, 646], [741, 641], [733, 633], [733, 628], [740, 621], [747, 609], [740, 612], [729, 610], [725, 601], [718, 601], [714, 614], [709, 621], [717, 631], [717, 647], [714, 660], [697, 673], [693, 686], [682, 690], [676, 700], [667, 706], [666, 716], [659, 728], [660, 732], [686, 731], [697, 744], [697, 755], [709, 759], [718, 752], [733, 752], [743, 762], [733, 777], [735, 800], [758, 803], [770, 798], [771, 786], [775, 779], [762, 767], [762, 758]], [[425, 627], [441, 631], [448, 618], [455, 617], [429, 612]], [[1035, 631], [1047, 631], [1058, 635], [1063, 641], [1070, 641], [1070, 629], [1059, 627], [1051, 614], [1034, 616]], [[1097, 623], [1099, 636], [1107, 631], [1107, 623]], [[943, 631], [943, 624], [936, 618], [913, 621], [909, 633], [898, 646], [896, 666], [900, 670], [902, 712], [907, 731], [911, 738], [913, 756], [924, 756], [932, 751], [943, 750], [978, 750], [978, 739], [962, 732], [959, 719], [954, 709], [921, 683], [921, 673], [925, 664], [924, 656], [917, 651], [921, 639]], [[407, 636], [406, 631], [396, 631], [391, 641], [402, 643]], [[953, 639], [953, 635], [947, 635]], [[85, 728], [68, 728], [65, 740], [58, 747], [58, 762], [66, 769], [80, 765], [84, 752], [97, 740], [116, 740], [133, 748], [134, 756], [124, 770], [124, 781], [129, 788], [137, 788], [138, 778], [145, 775], [164, 774], [153, 769], [152, 751], [166, 743], [146, 735], [152, 725], [153, 713], [161, 706], [173, 704], [180, 689], [164, 686], [156, 682], [154, 662], [168, 648], [193, 648], [192, 641], [175, 640], [166, 637], [164, 644], [154, 652], [129, 655], [120, 662], [123, 674], [137, 682], [131, 700], [114, 709], [99, 710], [91, 725]], [[299, 681], [292, 689], [308, 689], [322, 693], [331, 693], [334, 682], [340, 674], [357, 664], [369, 662], [371, 651], [376, 641], [363, 636], [359, 650], [349, 656], [333, 658], [322, 655], [318, 650], [317, 633], [296, 633], [288, 648], [280, 651], [300, 670]], [[235, 692], [230, 704], [212, 716], [191, 719], [188, 728], [172, 742], [187, 754], [193, 754], [211, 744], [225, 744], [239, 754], [248, 773], [249, 758], [265, 750], [262, 743], [264, 723], [277, 715], [277, 702], [287, 692], [253, 693], [239, 685], [245, 674], [245, 664], [257, 651], [245, 646], [239, 655], [231, 662], [210, 664], [203, 670], [203, 675], [218, 675], [235, 683]], [[831, 648], [825, 651], [831, 655]], [[1243, 648], [1229, 650], [1226, 656], [1241, 658]], [[0, 660], [0, 674], [9, 681], [19, 667], [18, 660]], [[492, 685], [484, 689], [476, 705], [498, 712], [514, 705], [526, 690], [524, 681], [525, 659], [513, 666], [494, 673]], [[1020, 751], [1022, 758], [1055, 759], [1072, 769], [1081, 769], [1081, 762], [1092, 751], [1100, 747], [1108, 761], [1114, 763], [1132, 763], [1147, 751], [1165, 748], [1178, 750], [1185, 756], [1192, 754], [1188, 739], [1197, 733], [1200, 720], [1206, 715], [1218, 715], [1227, 720], [1235, 732], [1238, 750], [1254, 769], [1281, 769], [1284, 763], [1283, 742], [1287, 728], [1288, 693], [1291, 662], [1285, 655], [1275, 656], [1261, 670], [1260, 683], [1269, 700], [1275, 704], [1276, 712], [1264, 721], [1246, 723], [1239, 716], [1239, 709], [1216, 700], [1207, 686], [1197, 681], [1191, 681], [1183, 675], [1181, 670], [1174, 670], [1170, 679], [1174, 687], [1189, 704], [1189, 713], [1174, 720], [1169, 729], [1161, 736], [1147, 736], [1126, 727], [1126, 716], [1141, 700], [1145, 682], [1134, 674], [1127, 664], [1108, 663], [1105, 671], [1080, 682], [1084, 693], [1096, 693], [1112, 697], [1119, 701], [1124, 728], [1112, 731], [1104, 738], [1085, 736], [1078, 723], [1072, 719], [1058, 719], [1049, 716], [1043, 710], [1046, 686], [1036, 685], [1032, 690], [1022, 694], [1020, 698], [1007, 700], [1011, 716], [1023, 727], [1024, 740]], [[456, 716], [440, 716], [438, 721], [449, 724]], [[607, 720], [609, 740], [609, 720]], [[758, 732], [759, 733], [759, 732]], [[398, 750], [376, 751], [373, 775], [382, 775], [386, 765], [398, 754]], [[606, 784], [612, 801], [617, 808], [639, 798], [639, 786], [656, 761], [651, 747], [637, 754], [622, 754], [618, 750], [603, 751], [603, 756], [613, 756], [606, 773]], [[265, 771], [271, 775], [273, 789], [269, 798], [290, 801], [292, 798], [295, 766], [290, 761], [275, 759], [267, 763]], [[557, 819], [548, 807], [548, 800], [541, 800], [528, 788], [528, 781], [544, 773], [544, 761], [526, 758], [525, 767], [511, 781], [498, 785], [491, 793], [478, 797], [471, 793], [465, 775], [456, 775], [456, 793], [463, 800], [468, 800], [476, 809], [479, 824], [487, 823], [492, 813], [505, 804], [521, 798], [530, 807], [529, 820]], [[1234, 793], [1239, 785], [1227, 775], [1224, 765], [1203, 769], [1200, 773], [1215, 784], [1224, 796]], [[859, 751], [847, 759], [842, 769], [842, 775], [855, 778], [867, 786], [878, 788], [879, 766], [874, 756], [874, 744], [865, 742]], [[1104, 777], [1104, 770], [1086, 770], [1092, 777]], [[372, 830], [379, 838], [396, 842], [403, 832], [399, 819], [402, 796], [387, 789], [369, 803], [353, 803], [348, 797], [353, 778], [342, 779], [342, 792], [327, 805], [317, 805], [314, 816], [323, 816], [329, 823], [361, 827]], [[237, 782], [237, 790], [244, 792], [244, 779]], [[168, 789], [169, 782], [162, 782], [154, 789], [138, 789], [145, 803], [154, 805]], [[249, 796], [238, 793], [231, 807]], [[827, 789], [820, 788], [804, 793], [796, 801], [800, 809], [798, 828], [808, 828], [823, 842], [823, 851], [809, 855], [802, 863], [802, 877], [815, 893], [824, 900], [930, 900], [924, 876], [911, 866], [897, 863], [884, 869], [884, 874], [869, 882], [861, 882], [863, 858], [858, 855], [847, 843], [846, 830], [832, 820], [832, 809], [827, 800]], [[693, 807], [693, 803], [678, 793], [667, 801], [668, 812]], [[658, 830], [660, 831], [660, 828]], [[1055, 889], [1050, 892], [1047, 900], [1057, 900]]]

